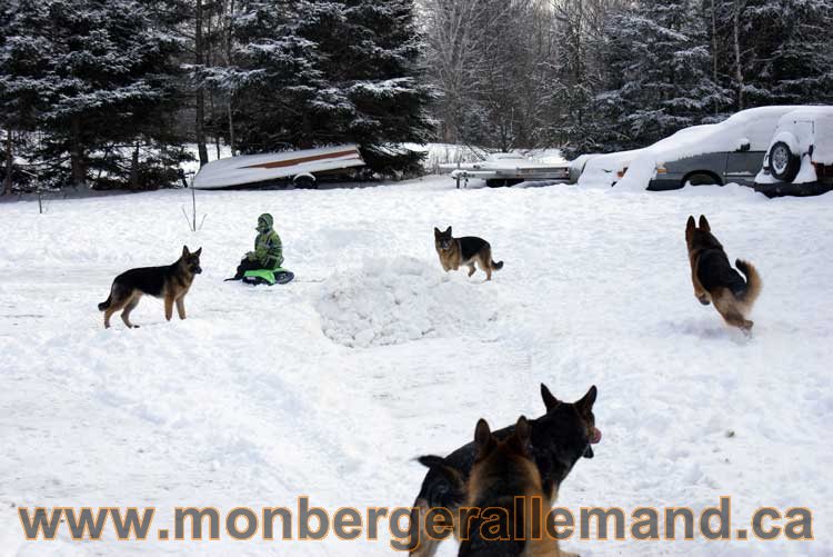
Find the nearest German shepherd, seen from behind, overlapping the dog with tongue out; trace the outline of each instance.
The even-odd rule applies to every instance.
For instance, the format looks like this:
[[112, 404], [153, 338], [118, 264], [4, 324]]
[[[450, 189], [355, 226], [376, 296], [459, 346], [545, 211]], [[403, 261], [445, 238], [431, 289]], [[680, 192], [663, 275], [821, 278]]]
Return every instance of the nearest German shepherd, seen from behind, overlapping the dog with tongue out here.
[[[473, 519], [462, 519], [465, 524], [460, 525], [460, 556], [563, 555], [558, 540], [550, 538], [544, 527], [544, 516], [552, 507], [552, 489], [544, 487], [532, 457], [531, 440], [532, 427], [523, 416], [505, 439], [493, 436], [484, 419], [478, 421], [476, 456], [465, 486], [465, 507], [478, 513]], [[538, 514], [535, 506], [540, 508]]]

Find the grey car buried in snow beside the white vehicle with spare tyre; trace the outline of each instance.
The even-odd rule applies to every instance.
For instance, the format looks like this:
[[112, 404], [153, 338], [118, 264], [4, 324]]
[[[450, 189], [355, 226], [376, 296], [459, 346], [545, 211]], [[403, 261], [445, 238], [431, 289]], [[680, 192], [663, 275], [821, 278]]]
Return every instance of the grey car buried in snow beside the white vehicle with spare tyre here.
[[644, 149], [615, 153], [611, 162], [622, 167], [612, 169], [621, 176], [616, 187], [654, 191], [686, 183], [752, 187], [779, 120], [800, 108], [742, 110], [720, 123], [692, 126]]

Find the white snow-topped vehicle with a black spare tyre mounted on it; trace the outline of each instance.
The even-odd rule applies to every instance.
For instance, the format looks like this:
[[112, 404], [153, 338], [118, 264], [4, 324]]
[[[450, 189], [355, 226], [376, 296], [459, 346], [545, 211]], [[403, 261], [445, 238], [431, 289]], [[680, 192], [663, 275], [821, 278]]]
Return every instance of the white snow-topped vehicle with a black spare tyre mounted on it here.
[[833, 189], [833, 107], [804, 107], [781, 117], [755, 189], [771, 197]]

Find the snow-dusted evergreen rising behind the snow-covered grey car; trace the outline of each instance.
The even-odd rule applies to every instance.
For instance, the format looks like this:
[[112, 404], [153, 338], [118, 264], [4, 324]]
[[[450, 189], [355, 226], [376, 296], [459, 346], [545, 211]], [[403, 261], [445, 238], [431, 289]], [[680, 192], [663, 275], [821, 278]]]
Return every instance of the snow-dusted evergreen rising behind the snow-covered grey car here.
[[612, 17], [598, 96], [609, 149], [649, 145], [701, 123], [730, 99], [711, 74], [703, 20], [689, 0], [649, 0]]

